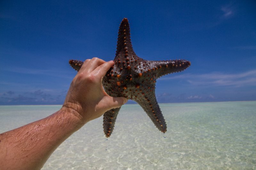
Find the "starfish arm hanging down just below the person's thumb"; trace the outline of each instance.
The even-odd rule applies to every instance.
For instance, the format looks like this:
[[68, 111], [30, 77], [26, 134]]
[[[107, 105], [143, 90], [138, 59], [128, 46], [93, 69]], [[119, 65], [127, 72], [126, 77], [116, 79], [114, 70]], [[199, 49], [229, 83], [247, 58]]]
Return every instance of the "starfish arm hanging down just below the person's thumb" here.
[[110, 137], [114, 130], [116, 117], [121, 107], [108, 110], [103, 115], [103, 129], [106, 137]]

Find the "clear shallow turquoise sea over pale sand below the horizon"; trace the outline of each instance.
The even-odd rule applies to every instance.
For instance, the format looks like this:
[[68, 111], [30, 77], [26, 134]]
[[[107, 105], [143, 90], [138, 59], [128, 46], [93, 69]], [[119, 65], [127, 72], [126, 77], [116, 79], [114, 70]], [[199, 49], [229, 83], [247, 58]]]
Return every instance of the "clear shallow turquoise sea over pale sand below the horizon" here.
[[[42, 169], [256, 169], [256, 101], [159, 105], [166, 133], [138, 104], [125, 104], [110, 138], [103, 118], [95, 119], [64, 141]], [[0, 133], [60, 108], [0, 106]]]

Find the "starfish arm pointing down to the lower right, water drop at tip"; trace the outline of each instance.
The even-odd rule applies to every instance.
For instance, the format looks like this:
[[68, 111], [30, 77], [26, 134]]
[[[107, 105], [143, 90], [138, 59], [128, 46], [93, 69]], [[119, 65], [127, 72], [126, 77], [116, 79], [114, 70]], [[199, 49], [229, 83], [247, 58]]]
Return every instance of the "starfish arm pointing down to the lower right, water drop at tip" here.
[[167, 126], [164, 120], [164, 116], [159, 108], [156, 101], [155, 90], [152, 90], [144, 95], [135, 99], [137, 103], [143, 108], [143, 110], [148, 114], [149, 118], [159, 129], [159, 131], [165, 133], [167, 131]]

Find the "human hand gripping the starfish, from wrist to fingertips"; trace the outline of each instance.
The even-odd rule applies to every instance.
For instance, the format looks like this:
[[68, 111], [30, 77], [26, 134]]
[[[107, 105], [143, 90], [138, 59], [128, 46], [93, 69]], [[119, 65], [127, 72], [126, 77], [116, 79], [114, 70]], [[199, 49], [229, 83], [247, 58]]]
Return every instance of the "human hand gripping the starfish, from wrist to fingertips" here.
[[113, 61], [99, 58], [85, 60], [71, 82], [61, 110], [71, 112], [82, 123], [87, 123], [126, 103], [127, 98], [108, 96], [103, 89], [102, 79], [113, 64]]

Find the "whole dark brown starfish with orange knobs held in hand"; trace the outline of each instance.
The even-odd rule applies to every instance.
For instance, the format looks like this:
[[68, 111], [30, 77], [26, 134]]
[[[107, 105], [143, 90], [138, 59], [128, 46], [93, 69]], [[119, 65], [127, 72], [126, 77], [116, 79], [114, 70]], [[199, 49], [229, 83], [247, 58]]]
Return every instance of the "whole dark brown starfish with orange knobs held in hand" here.
[[[156, 101], [156, 79], [190, 66], [187, 60], [149, 61], [138, 57], [133, 49], [127, 18], [120, 24], [114, 66], [103, 77], [103, 87], [109, 96], [126, 97], [134, 100], [148, 114], [156, 127], [166, 132], [166, 123]], [[69, 64], [79, 71], [83, 61], [69, 60]], [[116, 117], [121, 107], [108, 110], [103, 116], [106, 137], [113, 132]]]

